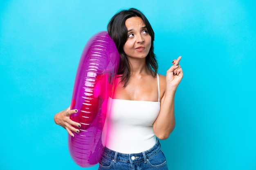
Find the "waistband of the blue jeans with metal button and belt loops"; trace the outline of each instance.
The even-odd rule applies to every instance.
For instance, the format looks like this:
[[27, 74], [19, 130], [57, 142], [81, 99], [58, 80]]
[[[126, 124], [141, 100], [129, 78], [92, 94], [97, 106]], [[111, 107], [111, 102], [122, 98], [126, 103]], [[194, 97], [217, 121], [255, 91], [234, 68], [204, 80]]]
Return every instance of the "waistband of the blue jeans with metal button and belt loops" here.
[[117, 161], [130, 162], [130, 163], [135, 163], [138, 161], [147, 162], [147, 159], [154, 156], [156, 153], [159, 152], [159, 150], [161, 150], [161, 146], [159, 141], [157, 140], [156, 144], [152, 148], [142, 153], [125, 154], [125, 153], [116, 152], [114, 150], [110, 150], [109, 148], [105, 148], [103, 155], [113, 159], [114, 162], [117, 162]]

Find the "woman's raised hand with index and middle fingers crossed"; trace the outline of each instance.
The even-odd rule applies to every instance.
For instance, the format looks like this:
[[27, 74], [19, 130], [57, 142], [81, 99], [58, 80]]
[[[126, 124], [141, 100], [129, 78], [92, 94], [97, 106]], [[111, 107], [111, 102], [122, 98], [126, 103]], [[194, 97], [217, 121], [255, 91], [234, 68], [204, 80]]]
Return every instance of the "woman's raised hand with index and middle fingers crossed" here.
[[166, 85], [168, 87], [177, 88], [183, 77], [182, 68], [180, 67], [181, 56], [173, 60], [173, 65], [166, 72]]

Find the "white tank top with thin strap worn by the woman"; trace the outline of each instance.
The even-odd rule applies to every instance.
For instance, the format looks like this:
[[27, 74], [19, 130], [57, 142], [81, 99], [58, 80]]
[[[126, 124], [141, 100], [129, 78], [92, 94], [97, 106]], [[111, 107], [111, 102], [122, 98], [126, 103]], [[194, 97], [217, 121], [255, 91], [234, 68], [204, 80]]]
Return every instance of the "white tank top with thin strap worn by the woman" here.
[[110, 99], [110, 112], [103, 129], [107, 148], [130, 154], [141, 153], [155, 145], [153, 123], [160, 111], [158, 74], [157, 84], [157, 102]]

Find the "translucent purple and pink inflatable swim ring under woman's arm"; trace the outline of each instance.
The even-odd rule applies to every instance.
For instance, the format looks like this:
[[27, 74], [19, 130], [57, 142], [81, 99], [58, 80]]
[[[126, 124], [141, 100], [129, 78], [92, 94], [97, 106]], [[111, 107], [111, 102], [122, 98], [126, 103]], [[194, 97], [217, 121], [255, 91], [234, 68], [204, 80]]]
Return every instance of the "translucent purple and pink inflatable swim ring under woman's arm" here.
[[96, 165], [103, 154], [105, 144], [101, 133], [119, 60], [119, 52], [107, 31], [92, 36], [83, 49], [70, 106], [70, 109], [78, 109], [70, 119], [79, 122], [81, 128], [74, 137], [68, 136], [70, 155], [81, 167]]

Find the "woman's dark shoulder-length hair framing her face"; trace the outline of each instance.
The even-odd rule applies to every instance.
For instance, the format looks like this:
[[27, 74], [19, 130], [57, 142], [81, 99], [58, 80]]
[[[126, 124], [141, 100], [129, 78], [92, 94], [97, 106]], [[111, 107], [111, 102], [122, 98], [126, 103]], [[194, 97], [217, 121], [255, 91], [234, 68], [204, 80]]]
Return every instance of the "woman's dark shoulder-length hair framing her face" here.
[[121, 82], [125, 81], [124, 86], [126, 86], [130, 78], [130, 65], [124, 52], [124, 44], [126, 43], [128, 33], [125, 22], [130, 17], [140, 17], [146, 24], [148, 34], [151, 36], [151, 47], [148, 55], [146, 56], [146, 66], [148, 67], [153, 76], [156, 76], [158, 68], [156, 56], [154, 54], [155, 33], [146, 16], [141, 11], [134, 8], [119, 11], [112, 17], [112, 19], [108, 23], [108, 33], [110, 37], [114, 40], [117, 46], [117, 50], [121, 56], [117, 74], [123, 75], [121, 78]]

